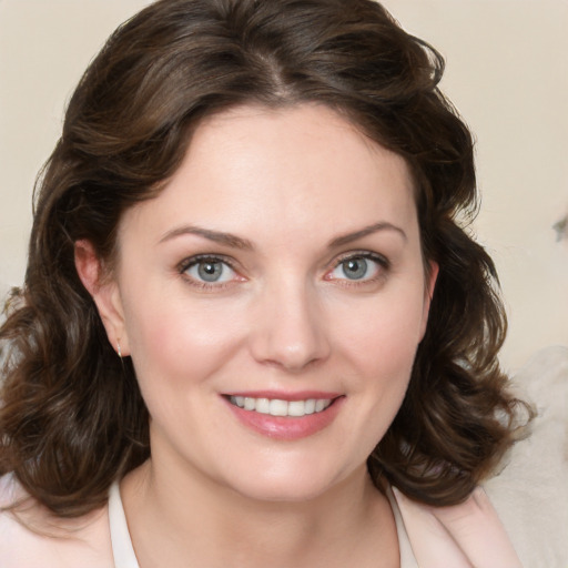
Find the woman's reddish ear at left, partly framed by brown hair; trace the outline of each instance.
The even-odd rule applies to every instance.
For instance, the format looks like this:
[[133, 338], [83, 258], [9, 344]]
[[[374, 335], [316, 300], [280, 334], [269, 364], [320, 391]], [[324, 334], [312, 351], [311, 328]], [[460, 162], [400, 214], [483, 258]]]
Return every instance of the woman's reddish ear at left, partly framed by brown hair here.
[[77, 273], [97, 305], [109, 342], [114, 351], [120, 351], [119, 355], [130, 355], [124, 312], [116, 281], [105, 272], [90, 241], [75, 242], [74, 260]]

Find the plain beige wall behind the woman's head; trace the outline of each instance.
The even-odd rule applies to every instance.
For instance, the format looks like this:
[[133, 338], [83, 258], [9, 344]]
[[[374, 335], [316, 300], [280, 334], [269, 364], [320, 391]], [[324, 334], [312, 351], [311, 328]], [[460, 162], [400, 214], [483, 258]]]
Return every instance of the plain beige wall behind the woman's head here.
[[[0, 0], [0, 294], [20, 284], [34, 175], [80, 73], [144, 0]], [[568, 0], [386, 0], [447, 59], [478, 140], [476, 231], [501, 275], [514, 369], [568, 344]]]

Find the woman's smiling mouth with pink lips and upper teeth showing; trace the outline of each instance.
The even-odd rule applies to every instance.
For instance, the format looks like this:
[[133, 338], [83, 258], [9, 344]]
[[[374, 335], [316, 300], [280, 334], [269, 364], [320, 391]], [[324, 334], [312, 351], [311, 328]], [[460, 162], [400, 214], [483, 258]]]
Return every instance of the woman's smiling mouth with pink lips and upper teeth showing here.
[[234, 393], [223, 396], [246, 428], [280, 440], [296, 440], [328, 427], [345, 397], [337, 393]]

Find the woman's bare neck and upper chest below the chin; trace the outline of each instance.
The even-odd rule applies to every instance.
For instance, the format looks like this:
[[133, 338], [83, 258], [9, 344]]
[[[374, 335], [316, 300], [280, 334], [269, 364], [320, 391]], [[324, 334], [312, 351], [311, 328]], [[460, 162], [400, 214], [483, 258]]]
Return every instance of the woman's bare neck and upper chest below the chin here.
[[124, 509], [141, 568], [398, 564], [388, 500], [365, 468], [301, 503], [251, 499], [196, 477], [176, 478], [149, 460], [124, 479]]

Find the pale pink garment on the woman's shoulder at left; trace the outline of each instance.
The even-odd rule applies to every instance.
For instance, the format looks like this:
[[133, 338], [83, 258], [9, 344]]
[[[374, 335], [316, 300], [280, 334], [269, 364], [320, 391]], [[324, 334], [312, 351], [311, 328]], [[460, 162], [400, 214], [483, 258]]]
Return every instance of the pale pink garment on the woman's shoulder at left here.
[[[0, 477], [0, 507], [27, 495], [11, 475]], [[108, 514], [59, 521], [30, 500], [20, 515], [0, 511], [2, 568], [109, 568], [113, 566]]]

